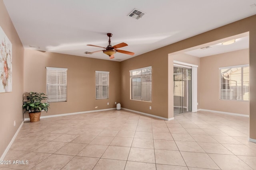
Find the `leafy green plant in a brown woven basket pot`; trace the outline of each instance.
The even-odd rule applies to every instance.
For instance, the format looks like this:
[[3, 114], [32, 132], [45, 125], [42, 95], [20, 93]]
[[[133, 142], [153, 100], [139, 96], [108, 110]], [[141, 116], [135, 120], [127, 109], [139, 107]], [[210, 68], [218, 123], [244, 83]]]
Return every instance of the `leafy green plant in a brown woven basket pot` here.
[[46, 100], [46, 94], [30, 92], [27, 96], [27, 100], [23, 102], [24, 113], [28, 111], [30, 122], [36, 122], [40, 120], [41, 111], [48, 111], [50, 104], [42, 103], [42, 100]]

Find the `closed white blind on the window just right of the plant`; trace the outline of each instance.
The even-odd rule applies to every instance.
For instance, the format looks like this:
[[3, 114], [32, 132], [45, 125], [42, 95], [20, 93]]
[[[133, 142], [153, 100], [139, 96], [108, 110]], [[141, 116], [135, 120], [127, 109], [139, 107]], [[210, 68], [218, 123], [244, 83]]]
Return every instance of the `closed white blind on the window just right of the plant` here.
[[47, 102], [67, 101], [67, 68], [46, 67]]

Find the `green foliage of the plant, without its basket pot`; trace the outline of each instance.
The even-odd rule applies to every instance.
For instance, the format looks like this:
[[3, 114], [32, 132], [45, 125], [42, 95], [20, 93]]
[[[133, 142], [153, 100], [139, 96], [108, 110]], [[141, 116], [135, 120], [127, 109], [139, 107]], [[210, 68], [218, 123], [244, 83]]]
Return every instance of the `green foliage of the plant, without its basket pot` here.
[[27, 100], [23, 102], [23, 110], [24, 113], [28, 111], [29, 113], [36, 113], [42, 110], [48, 111], [50, 104], [42, 103], [42, 100], [46, 100], [46, 94], [44, 93], [37, 93], [37, 92], [30, 92], [27, 96]]

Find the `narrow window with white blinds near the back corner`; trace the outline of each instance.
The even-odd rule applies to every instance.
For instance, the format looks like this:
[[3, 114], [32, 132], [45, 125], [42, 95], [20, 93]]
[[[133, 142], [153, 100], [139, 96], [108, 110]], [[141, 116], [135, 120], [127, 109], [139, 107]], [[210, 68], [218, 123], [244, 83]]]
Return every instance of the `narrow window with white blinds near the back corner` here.
[[95, 71], [96, 99], [108, 99], [109, 72]]

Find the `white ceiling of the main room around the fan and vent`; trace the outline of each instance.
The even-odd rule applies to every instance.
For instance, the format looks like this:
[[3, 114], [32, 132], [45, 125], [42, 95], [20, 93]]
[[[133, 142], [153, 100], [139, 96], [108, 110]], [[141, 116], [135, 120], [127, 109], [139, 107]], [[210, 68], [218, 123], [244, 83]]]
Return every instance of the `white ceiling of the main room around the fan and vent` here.
[[[25, 48], [109, 59], [102, 50], [106, 33], [112, 45], [134, 56], [116, 53], [113, 61], [175, 43], [256, 14], [256, 0], [4, 0]], [[134, 9], [146, 14], [136, 20], [127, 15]], [[213, 48], [212, 48], [213, 49]]]

